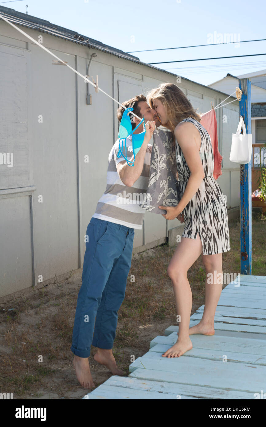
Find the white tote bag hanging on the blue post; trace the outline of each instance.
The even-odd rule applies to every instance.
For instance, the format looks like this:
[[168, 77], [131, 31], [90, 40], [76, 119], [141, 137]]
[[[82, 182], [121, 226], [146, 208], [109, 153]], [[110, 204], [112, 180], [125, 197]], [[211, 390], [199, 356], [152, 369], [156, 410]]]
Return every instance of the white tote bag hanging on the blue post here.
[[[243, 135], [240, 134], [243, 128]], [[232, 135], [230, 160], [234, 163], [247, 164], [252, 154], [252, 134], [246, 133], [246, 126], [241, 116], [237, 133]]]

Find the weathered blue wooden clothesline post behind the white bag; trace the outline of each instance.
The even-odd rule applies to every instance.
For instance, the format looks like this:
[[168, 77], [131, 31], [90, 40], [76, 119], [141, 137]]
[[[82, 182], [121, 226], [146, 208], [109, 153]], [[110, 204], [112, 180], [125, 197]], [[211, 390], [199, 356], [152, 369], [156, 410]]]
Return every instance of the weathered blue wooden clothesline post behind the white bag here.
[[[251, 133], [251, 84], [249, 79], [239, 79], [242, 97], [239, 102], [239, 115], [243, 116], [247, 134]], [[251, 160], [240, 164], [240, 272], [251, 275]], [[244, 200], [243, 200], [244, 196]]]

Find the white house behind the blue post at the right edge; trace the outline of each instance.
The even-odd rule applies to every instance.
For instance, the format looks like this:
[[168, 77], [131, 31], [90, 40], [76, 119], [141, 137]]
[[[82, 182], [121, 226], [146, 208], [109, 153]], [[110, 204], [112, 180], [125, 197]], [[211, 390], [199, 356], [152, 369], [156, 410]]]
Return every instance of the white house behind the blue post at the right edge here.
[[252, 133], [252, 193], [257, 190], [261, 171], [260, 164], [266, 165], [266, 70], [232, 76], [227, 74], [223, 79], [208, 85], [230, 95], [238, 86], [238, 79], [250, 79], [251, 82], [251, 133]]

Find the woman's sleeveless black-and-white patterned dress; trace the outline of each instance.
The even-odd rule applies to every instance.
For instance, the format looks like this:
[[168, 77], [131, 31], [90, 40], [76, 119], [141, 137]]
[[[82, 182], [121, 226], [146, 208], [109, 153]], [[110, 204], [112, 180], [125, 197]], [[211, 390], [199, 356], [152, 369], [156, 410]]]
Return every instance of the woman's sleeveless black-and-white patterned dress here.
[[[187, 118], [183, 122], [193, 123], [201, 135], [199, 154], [202, 160], [205, 178], [196, 194], [184, 208], [185, 228], [182, 237], [196, 239], [199, 233], [202, 241], [203, 255], [220, 254], [229, 251], [230, 240], [228, 230], [227, 205], [222, 190], [213, 178], [213, 149], [210, 135], [195, 119]], [[183, 196], [190, 177], [184, 155], [175, 140], [176, 165], [178, 171], [178, 187]]]

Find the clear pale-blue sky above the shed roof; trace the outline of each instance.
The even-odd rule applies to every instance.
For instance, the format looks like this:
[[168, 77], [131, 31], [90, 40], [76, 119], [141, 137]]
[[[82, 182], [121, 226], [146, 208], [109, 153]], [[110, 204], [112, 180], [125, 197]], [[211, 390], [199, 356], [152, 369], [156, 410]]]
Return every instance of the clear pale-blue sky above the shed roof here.
[[[94, 38], [124, 52], [166, 47], [208, 44], [215, 34], [225, 40], [233, 33], [236, 41], [266, 38], [265, 0], [22, 0], [3, 3]], [[26, 29], [24, 29], [26, 31]], [[208, 34], [212, 35], [209, 36]], [[222, 35], [222, 38], [221, 38]], [[266, 41], [216, 44], [168, 51], [133, 53], [143, 62], [175, 61], [218, 56], [266, 53]], [[208, 85], [227, 73], [235, 76], [266, 69], [266, 55], [247, 58], [160, 64], [195, 82]]]

